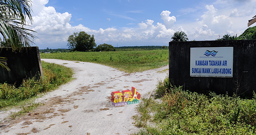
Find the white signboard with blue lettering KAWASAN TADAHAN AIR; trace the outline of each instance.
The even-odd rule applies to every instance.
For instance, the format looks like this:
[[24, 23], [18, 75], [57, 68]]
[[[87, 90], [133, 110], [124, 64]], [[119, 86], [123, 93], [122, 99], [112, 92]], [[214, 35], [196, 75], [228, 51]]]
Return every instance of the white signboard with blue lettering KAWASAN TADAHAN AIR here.
[[233, 77], [233, 47], [190, 48], [190, 76]]

